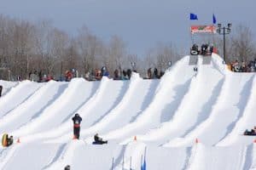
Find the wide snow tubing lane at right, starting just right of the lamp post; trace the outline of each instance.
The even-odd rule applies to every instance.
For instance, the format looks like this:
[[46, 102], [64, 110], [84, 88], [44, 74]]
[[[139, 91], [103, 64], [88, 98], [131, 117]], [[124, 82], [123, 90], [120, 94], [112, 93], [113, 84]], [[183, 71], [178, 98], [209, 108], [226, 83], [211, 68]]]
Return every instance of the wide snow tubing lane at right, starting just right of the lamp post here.
[[[241, 99], [248, 98], [246, 87], [251, 86], [252, 74], [225, 71], [224, 85], [207, 120], [201, 122], [184, 138], [173, 139], [166, 146], [193, 144], [198, 138], [204, 144], [216, 144], [232, 130], [230, 125], [239, 116]], [[234, 85], [236, 84], [236, 85]]]

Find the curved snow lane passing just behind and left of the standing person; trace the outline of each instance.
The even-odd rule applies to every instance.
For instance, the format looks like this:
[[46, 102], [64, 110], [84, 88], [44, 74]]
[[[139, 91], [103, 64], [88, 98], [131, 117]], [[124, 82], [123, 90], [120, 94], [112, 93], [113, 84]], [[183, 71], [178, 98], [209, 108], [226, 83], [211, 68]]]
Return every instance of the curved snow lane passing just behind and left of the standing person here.
[[[83, 78], [73, 79], [52, 105], [45, 108], [31, 122], [27, 122], [24, 126], [15, 130], [13, 134], [15, 136], [22, 136], [45, 130], [49, 131], [58, 127], [67, 116], [73, 116], [74, 111], [78, 110], [79, 106], [90, 98], [92, 87], [92, 83], [85, 81]], [[45, 126], [46, 124], [47, 126]]]

